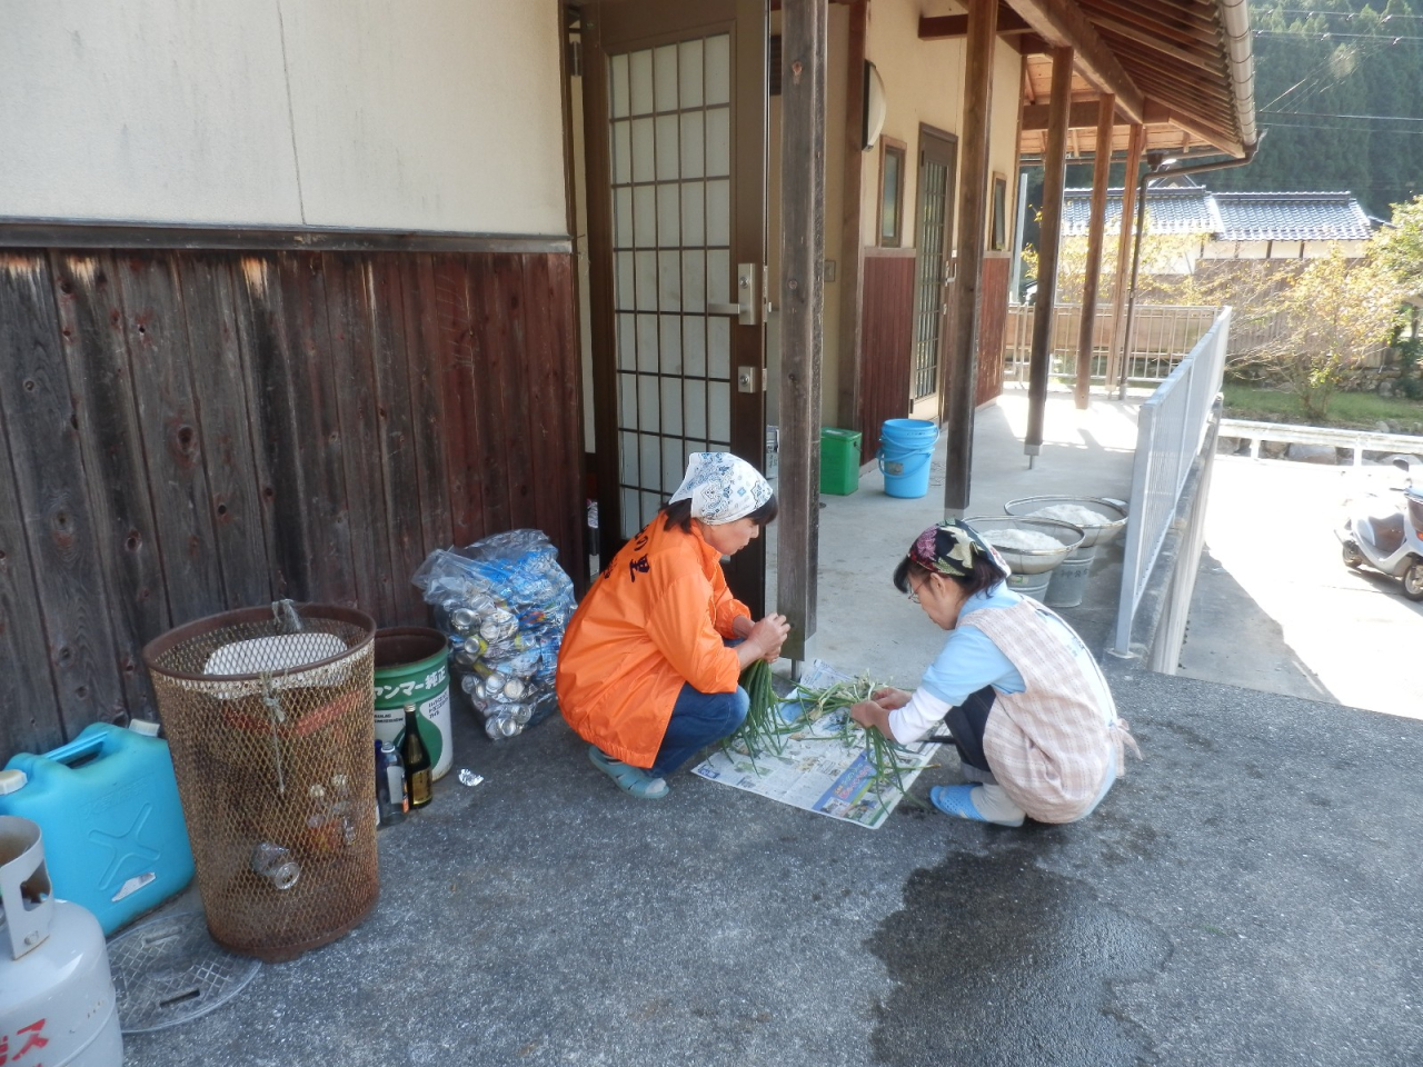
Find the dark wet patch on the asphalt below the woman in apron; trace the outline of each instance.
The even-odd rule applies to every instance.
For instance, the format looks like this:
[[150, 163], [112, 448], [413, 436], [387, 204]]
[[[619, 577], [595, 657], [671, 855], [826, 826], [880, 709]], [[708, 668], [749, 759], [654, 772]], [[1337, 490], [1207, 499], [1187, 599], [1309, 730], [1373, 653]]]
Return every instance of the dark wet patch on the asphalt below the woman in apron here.
[[[1023, 837], [1062, 832], [1032, 827]], [[1150, 1037], [1111, 990], [1150, 976], [1170, 956], [1168, 942], [1103, 905], [1086, 882], [1043, 871], [1020, 839], [999, 835], [986, 855], [953, 852], [909, 876], [902, 911], [869, 939], [895, 983], [877, 1012], [878, 1061], [1147, 1061]], [[922, 1019], [939, 1026], [925, 1031], [914, 1023]]]

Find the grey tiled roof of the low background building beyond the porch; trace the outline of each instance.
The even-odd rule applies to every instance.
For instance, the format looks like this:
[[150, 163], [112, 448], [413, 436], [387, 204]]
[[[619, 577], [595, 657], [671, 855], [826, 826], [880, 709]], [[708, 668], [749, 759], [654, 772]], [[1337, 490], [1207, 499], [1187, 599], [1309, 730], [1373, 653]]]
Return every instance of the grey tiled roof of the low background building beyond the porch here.
[[[1063, 233], [1084, 236], [1091, 189], [1063, 195]], [[1107, 232], [1121, 218], [1121, 189], [1107, 191]], [[1153, 233], [1208, 233], [1217, 240], [1366, 240], [1369, 218], [1348, 192], [1208, 192], [1153, 188], [1147, 196]]]

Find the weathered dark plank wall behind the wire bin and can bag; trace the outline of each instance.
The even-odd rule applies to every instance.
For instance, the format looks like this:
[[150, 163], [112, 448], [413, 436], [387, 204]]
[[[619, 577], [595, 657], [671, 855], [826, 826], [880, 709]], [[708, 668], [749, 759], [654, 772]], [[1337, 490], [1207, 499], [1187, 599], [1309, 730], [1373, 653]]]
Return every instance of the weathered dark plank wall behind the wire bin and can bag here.
[[566, 255], [0, 249], [0, 761], [154, 714], [191, 619], [424, 623], [433, 548], [525, 526], [582, 586], [572, 314]]

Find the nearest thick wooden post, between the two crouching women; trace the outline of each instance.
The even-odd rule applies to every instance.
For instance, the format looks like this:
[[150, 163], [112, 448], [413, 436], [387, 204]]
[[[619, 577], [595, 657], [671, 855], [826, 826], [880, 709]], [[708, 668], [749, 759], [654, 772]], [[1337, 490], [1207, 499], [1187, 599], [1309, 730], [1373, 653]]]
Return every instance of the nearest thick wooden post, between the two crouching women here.
[[781, 4], [781, 460], [776, 610], [783, 654], [810, 659], [820, 566], [820, 351], [824, 310], [827, 0]]

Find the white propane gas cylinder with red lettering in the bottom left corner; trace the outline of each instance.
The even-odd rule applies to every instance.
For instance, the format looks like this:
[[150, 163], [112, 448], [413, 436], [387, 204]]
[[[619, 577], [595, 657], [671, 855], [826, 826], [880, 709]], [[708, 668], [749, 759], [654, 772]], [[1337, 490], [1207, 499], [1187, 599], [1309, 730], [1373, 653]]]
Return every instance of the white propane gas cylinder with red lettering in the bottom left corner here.
[[[0, 778], [9, 774], [20, 771]], [[118, 1067], [104, 930], [80, 905], [54, 899], [40, 827], [16, 815], [0, 815], [0, 1063]]]

